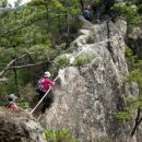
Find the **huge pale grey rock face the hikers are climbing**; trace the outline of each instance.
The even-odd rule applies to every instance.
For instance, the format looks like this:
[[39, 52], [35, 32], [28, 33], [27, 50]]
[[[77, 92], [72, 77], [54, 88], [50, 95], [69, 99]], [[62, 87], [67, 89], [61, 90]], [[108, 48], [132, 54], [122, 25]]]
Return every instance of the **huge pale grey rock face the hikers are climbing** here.
[[[123, 107], [125, 97], [138, 95], [134, 83], [122, 81], [128, 68], [120, 31], [108, 22], [81, 33], [72, 44], [78, 49], [64, 55], [72, 66], [59, 71], [55, 102], [40, 122], [48, 129], [69, 129], [81, 142], [137, 142], [129, 137], [134, 119], [125, 122], [114, 116]], [[76, 57], [90, 61], [75, 67]]]

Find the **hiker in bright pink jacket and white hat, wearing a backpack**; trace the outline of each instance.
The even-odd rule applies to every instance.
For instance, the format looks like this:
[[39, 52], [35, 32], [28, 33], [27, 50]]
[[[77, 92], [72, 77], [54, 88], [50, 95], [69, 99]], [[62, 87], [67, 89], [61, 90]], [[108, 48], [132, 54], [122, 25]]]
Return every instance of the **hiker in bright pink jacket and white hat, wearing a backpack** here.
[[[52, 86], [55, 83], [49, 79], [50, 78], [50, 72], [46, 71], [44, 76], [38, 80], [37, 82], [37, 92], [39, 93], [39, 99], [43, 98], [43, 96], [46, 94], [48, 91], [49, 86]], [[44, 106], [42, 108], [42, 113], [44, 114], [46, 108], [50, 107], [52, 103], [52, 97], [50, 94], [47, 94], [47, 96], [44, 98]]]

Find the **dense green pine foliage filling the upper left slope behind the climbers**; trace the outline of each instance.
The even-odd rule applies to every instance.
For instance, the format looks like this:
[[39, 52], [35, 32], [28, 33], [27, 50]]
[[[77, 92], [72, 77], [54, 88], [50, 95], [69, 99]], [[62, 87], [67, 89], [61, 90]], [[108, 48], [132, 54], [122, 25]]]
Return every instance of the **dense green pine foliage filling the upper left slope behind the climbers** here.
[[[21, 0], [17, 0], [15, 9], [0, 12], [0, 71], [13, 59], [17, 60], [11, 67], [26, 67], [54, 60], [64, 49], [62, 45], [67, 40], [63, 36], [68, 24], [73, 38], [80, 27], [75, 19], [81, 11], [78, 0], [32, 0], [22, 7], [20, 3]], [[7, 5], [7, 0], [0, 1], [0, 7]], [[60, 59], [59, 63], [68, 66], [69, 60]], [[7, 71], [4, 75], [8, 81], [1, 85], [1, 94], [17, 94], [29, 82], [35, 84], [37, 76], [48, 70], [47, 67], [47, 63], [43, 63], [37, 68], [20, 68], [15, 69], [16, 74], [13, 70]], [[20, 95], [23, 96], [24, 93]]]

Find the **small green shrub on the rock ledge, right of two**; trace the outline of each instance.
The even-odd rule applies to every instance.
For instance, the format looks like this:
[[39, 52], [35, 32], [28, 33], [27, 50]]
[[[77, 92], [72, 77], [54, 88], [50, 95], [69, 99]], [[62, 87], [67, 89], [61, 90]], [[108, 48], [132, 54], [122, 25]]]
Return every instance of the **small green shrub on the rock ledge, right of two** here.
[[75, 57], [74, 66], [83, 66], [90, 61], [88, 57]]

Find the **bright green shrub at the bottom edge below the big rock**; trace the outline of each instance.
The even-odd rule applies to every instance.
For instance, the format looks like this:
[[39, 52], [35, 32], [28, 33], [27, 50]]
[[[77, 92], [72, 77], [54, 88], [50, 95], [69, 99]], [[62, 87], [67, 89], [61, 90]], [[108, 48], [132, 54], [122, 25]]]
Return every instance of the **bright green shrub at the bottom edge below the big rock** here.
[[69, 130], [45, 130], [46, 140], [48, 142], [79, 142], [73, 139]]

